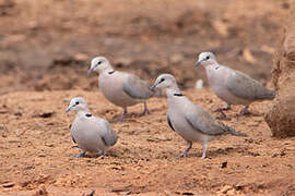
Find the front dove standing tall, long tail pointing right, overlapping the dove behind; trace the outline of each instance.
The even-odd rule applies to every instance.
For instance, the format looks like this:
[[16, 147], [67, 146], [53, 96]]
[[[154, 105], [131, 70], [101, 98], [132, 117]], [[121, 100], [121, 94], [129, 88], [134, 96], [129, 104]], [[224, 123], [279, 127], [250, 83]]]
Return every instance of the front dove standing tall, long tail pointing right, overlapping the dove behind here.
[[166, 89], [168, 98], [168, 125], [188, 143], [185, 152], [178, 157], [186, 157], [193, 142], [202, 144], [203, 152], [201, 158], [203, 159], [205, 158], [206, 143], [217, 136], [225, 134], [246, 136], [246, 134], [236, 132], [234, 128], [214, 119], [200, 106], [193, 105], [180, 93], [173, 75], [160, 75], [152, 88], [154, 87]]

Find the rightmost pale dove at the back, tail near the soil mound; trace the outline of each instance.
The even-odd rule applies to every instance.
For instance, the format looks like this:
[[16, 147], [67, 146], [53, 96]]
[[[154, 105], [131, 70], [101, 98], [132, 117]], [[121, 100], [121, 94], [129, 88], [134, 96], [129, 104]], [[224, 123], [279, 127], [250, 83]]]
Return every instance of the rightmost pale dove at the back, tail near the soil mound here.
[[216, 111], [231, 109], [231, 105], [243, 105], [245, 108], [240, 114], [249, 113], [248, 108], [252, 101], [271, 100], [275, 91], [268, 89], [250, 76], [217, 63], [212, 52], [202, 52], [194, 66], [202, 64], [205, 69], [210, 87], [226, 103], [226, 108]]

